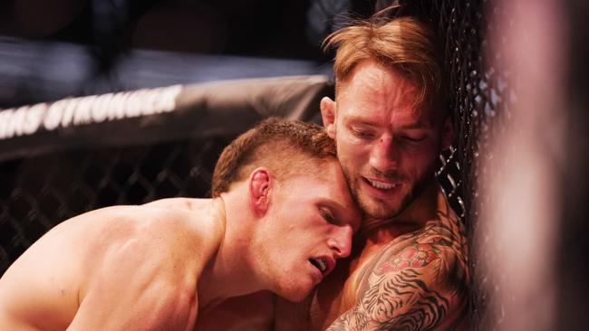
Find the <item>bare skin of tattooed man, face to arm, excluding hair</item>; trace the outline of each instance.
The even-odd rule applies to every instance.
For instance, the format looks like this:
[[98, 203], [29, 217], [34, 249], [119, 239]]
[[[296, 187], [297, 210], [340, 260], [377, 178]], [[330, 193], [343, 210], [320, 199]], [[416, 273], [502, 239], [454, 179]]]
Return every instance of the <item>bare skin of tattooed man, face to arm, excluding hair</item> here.
[[[466, 240], [434, 178], [453, 129], [441, 106], [416, 109], [418, 94], [399, 71], [367, 60], [340, 82], [336, 101], [322, 100], [323, 124], [368, 217], [342, 280], [317, 290], [312, 330], [454, 330], [466, 316]], [[329, 299], [335, 304], [322, 305]]]

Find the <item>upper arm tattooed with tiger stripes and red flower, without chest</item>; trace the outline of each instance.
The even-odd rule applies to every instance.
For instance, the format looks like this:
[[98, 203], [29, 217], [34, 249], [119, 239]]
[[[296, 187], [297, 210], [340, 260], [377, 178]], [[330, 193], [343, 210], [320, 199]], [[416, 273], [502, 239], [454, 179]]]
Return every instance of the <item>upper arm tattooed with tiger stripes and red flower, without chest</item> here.
[[328, 330], [455, 329], [466, 312], [465, 247], [441, 224], [391, 242], [358, 279], [357, 302]]

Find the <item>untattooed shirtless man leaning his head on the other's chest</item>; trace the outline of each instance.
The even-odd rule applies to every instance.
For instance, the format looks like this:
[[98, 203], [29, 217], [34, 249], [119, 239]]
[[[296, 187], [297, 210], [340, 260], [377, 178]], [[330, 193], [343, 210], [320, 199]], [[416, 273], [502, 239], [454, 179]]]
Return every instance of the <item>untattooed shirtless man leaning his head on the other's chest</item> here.
[[323, 128], [269, 119], [220, 156], [212, 199], [57, 225], [0, 279], [1, 330], [191, 330], [224, 298], [309, 294], [360, 224]]

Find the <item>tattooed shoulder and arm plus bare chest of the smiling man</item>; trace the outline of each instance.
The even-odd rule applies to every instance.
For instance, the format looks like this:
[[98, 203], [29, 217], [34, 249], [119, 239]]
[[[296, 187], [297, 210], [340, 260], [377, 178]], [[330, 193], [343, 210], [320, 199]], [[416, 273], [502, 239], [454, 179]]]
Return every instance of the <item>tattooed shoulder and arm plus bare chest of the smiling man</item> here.
[[[343, 287], [329, 283], [318, 288], [311, 306], [310, 329], [466, 327], [468, 274], [464, 229], [441, 193], [436, 206], [435, 215], [417, 230], [392, 225], [360, 239], [362, 253], [333, 275], [336, 278], [338, 272], [350, 272]], [[389, 236], [389, 243], [383, 244], [386, 241], [382, 239]], [[321, 303], [329, 300], [339, 305], [323, 310]]]

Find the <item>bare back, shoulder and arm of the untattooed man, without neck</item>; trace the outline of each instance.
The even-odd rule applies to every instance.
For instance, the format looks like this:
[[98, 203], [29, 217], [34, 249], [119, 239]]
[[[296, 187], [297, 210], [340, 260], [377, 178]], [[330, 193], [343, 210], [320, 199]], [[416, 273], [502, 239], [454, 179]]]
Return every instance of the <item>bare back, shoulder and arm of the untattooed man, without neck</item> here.
[[0, 329], [191, 330], [223, 226], [212, 205], [178, 202], [104, 208], [47, 232], [0, 281]]

